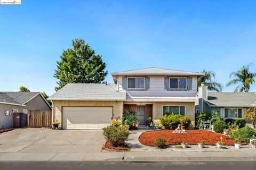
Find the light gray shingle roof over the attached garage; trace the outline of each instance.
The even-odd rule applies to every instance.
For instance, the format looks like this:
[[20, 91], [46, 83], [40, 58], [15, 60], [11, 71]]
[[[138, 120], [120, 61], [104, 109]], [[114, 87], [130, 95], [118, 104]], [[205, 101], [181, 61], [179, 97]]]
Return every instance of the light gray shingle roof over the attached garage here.
[[116, 84], [69, 83], [49, 100], [126, 100], [126, 93], [116, 91]]

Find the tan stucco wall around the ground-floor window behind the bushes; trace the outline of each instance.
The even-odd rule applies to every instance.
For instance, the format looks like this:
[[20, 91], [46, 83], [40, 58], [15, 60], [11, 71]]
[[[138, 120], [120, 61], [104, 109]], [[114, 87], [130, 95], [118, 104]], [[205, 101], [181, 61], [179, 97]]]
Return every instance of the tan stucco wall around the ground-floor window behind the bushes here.
[[191, 125], [195, 126], [194, 102], [153, 102], [153, 119], [163, 116], [163, 105], [185, 106], [185, 116], [189, 116], [192, 120]]

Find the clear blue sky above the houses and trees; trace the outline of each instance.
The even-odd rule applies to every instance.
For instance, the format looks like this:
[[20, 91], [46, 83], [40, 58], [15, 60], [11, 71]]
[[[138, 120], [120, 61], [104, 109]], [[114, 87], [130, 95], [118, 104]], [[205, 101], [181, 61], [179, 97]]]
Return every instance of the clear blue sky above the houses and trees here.
[[[255, 1], [29, 1], [0, 5], [0, 91], [54, 93], [56, 61], [83, 38], [110, 73], [161, 67], [229, 74], [253, 63]], [[223, 91], [233, 91], [235, 86]], [[251, 91], [256, 91], [253, 84]]]

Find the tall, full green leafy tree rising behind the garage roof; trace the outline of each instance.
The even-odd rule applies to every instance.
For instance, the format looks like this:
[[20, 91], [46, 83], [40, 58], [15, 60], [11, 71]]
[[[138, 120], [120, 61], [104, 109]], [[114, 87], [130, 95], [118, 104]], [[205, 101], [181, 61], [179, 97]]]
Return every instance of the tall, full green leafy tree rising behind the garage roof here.
[[95, 54], [94, 50], [85, 44], [83, 39], [72, 40], [73, 48], [64, 50], [57, 62], [54, 78], [59, 81], [59, 90], [67, 83], [102, 83], [107, 75], [106, 63], [101, 55]]

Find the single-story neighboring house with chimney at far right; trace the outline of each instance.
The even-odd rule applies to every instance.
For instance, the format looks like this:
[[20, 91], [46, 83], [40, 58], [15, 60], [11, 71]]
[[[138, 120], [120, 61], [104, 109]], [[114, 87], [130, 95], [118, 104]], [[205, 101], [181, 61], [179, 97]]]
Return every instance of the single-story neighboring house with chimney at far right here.
[[208, 92], [203, 83], [198, 88], [196, 113], [218, 112], [222, 118], [244, 117], [256, 101], [254, 92]]

